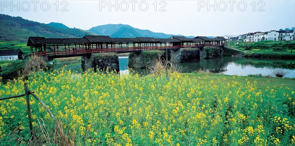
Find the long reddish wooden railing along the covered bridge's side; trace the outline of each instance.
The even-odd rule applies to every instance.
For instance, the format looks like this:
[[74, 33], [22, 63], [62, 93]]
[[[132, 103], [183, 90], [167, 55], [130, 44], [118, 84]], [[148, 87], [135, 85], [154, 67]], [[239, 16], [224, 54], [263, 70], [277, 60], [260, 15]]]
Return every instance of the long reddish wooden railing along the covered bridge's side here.
[[64, 51], [39, 51], [36, 55], [51, 56], [51, 55], [69, 55], [69, 54], [87, 54], [99, 52], [118, 52], [118, 51], [137, 51], [137, 50], [152, 50], [152, 49], [179, 49], [179, 48], [194, 48], [204, 46], [221, 46], [223, 44], [193, 44], [193, 45], [177, 45], [177, 46], [147, 46], [147, 47], [126, 47], [126, 48], [104, 48], [104, 49], [77, 49]]

